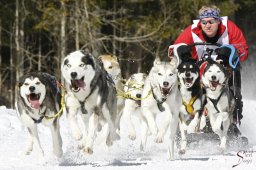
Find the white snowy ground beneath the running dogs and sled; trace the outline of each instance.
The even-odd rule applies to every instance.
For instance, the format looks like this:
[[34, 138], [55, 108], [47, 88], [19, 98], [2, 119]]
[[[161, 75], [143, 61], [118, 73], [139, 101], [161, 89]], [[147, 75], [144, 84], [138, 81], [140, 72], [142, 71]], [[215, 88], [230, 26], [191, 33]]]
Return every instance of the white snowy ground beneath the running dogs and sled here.
[[[14, 110], [0, 107], [0, 169], [248, 169], [256, 167], [256, 101], [244, 100], [244, 118], [241, 130], [249, 138], [249, 147], [228, 149], [228, 153], [221, 155], [218, 152], [217, 144], [203, 142], [200, 146], [190, 146], [187, 153], [180, 157], [175, 151], [175, 160], [168, 161], [167, 144], [165, 137], [163, 144], [155, 144], [153, 138], [149, 137], [147, 150], [140, 152], [140, 134], [137, 139], [130, 141], [127, 138], [125, 124], [121, 121], [121, 140], [107, 149], [103, 144], [94, 146], [93, 155], [84, 155], [77, 149], [76, 143], [69, 135], [65, 116], [61, 117], [61, 136], [63, 138], [64, 155], [56, 159], [52, 155], [51, 135], [48, 128], [39, 126], [39, 137], [43, 150], [45, 151], [45, 164], [37, 163], [37, 155], [30, 156], [22, 154], [24, 151], [27, 132], [22, 127]], [[134, 118], [138, 124], [138, 120]], [[139, 131], [139, 125], [137, 127]], [[239, 152], [239, 153], [238, 153]], [[237, 156], [238, 155], [240, 156]], [[240, 164], [239, 164], [240, 163]], [[233, 165], [237, 165], [232, 168]]]

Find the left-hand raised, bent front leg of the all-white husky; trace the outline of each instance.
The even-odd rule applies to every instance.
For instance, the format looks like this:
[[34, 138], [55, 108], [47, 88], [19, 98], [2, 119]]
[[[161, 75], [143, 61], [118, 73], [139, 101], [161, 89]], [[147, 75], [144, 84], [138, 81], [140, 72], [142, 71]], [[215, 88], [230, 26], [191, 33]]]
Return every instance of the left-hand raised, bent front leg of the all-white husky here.
[[146, 118], [149, 130], [151, 131], [152, 135], [156, 136], [158, 130], [157, 130], [157, 125], [155, 121], [155, 116], [146, 107], [142, 108], [142, 115]]

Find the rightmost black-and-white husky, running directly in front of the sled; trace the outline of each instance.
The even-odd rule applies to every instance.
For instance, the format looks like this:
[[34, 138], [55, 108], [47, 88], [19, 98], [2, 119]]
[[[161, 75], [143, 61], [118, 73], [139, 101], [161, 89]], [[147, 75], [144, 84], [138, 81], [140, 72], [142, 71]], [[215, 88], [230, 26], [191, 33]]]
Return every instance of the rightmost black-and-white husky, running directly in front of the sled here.
[[205, 111], [213, 132], [220, 138], [220, 149], [224, 151], [235, 105], [234, 96], [228, 89], [228, 72], [225, 67], [212, 60], [203, 63], [200, 71], [206, 90]]

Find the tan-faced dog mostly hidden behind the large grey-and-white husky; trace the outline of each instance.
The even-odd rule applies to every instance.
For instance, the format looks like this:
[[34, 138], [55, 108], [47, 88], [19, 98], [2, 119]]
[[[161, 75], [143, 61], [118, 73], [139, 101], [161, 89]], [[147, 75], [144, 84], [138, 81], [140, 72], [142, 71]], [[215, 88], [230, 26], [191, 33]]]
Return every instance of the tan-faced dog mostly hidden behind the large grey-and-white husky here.
[[[100, 55], [98, 57], [100, 61], [103, 63], [105, 70], [111, 76], [113, 82], [115, 83], [115, 87], [117, 93], [122, 93], [124, 91], [124, 83], [121, 75], [120, 65], [118, 63], [117, 57], [114, 55]], [[124, 108], [124, 98], [117, 98], [117, 112], [121, 114]]]

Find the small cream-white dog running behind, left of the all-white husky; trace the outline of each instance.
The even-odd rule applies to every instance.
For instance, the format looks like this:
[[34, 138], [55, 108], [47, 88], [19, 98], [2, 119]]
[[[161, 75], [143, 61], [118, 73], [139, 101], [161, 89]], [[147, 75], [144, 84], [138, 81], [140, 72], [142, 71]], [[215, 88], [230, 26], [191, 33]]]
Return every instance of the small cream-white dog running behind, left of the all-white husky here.
[[141, 114], [141, 95], [144, 87], [144, 82], [146, 79], [146, 74], [144, 73], [135, 73], [127, 80], [124, 93], [127, 96], [125, 99], [125, 106], [123, 110], [123, 119], [127, 124], [128, 128], [128, 137], [131, 140], [136, 139], [136, 132], [131, 120], [131, 116], [137, 116], [139, 120], [142, 120]]

